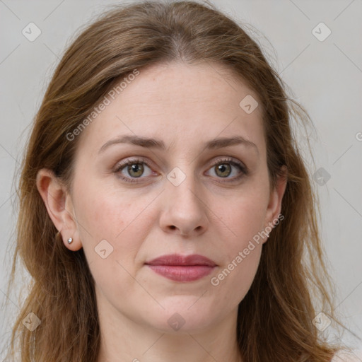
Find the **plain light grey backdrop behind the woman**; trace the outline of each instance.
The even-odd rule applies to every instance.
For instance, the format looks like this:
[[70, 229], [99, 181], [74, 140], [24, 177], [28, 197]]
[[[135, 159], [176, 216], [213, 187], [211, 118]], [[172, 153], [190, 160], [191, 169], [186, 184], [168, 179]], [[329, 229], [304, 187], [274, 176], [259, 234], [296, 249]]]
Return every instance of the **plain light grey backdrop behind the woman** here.
[[[6, 281], [16, 223], [13, 175], [29, 126], [76, 30], [108, 4], [119, 2], [0, 0], [0, 302], [12, 310], [0, 311], [2, 345], [19, 308], [16, 294], [6, 294]], [[310, 142], [315, 165], [310, 165], [310, 173], [317, 172], [322, 240], [337, 287], [336, 311], [346, 323], [342, 340], [361, 346], [362, 1], [215, 0], [213, 4], [254, 29], [252, 36], [313, 119], [316, 131]], [[41, 31], [33, 41], [22, 33], [33, 26], [29, 23]]]

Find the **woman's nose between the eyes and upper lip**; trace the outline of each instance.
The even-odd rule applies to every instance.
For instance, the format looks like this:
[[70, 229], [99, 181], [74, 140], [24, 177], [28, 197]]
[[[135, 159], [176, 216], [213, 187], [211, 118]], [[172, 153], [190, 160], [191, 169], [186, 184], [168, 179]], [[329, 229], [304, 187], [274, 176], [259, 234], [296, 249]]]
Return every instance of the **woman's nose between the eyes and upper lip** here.
[[209, 223], [207, 202], [194, 177], [187, 175], [177, 186], [167, 180], [162, 195], [160, 227], [166, 233], [194, 237], [206, 231]]

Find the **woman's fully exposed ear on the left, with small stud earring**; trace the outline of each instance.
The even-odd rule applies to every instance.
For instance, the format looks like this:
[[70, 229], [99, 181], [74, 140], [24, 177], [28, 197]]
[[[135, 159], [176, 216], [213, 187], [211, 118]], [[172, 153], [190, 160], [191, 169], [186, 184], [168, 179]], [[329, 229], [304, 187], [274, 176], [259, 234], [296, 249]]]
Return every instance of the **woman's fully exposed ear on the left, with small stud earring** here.
[[[38, 171], [36, 183], [49, 217], [62, 234], [64, 245], [73, 251], [81, 249], [74, 208], [66, 187], [51, 170], [46, 168]], [[68, 243], [69, 238], [73, 238], [73, 243]]]

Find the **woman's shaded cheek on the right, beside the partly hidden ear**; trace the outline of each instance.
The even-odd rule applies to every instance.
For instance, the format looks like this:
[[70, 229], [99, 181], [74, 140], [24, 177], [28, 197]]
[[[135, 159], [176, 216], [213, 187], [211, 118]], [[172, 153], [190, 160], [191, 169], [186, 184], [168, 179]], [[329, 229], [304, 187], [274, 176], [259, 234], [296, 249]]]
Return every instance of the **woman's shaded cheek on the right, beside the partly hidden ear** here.
[[211, 286], [224, 302], [230, 305], [240, 303], [252, 281], [262, 253], [262, 231], [267, 208], [267, 192], [255, 187], [228, 200], [227, 206], [218, 208], [222, 215], [220, 226], [225, 225], [222, 252], [223, 264], [211, 279]]

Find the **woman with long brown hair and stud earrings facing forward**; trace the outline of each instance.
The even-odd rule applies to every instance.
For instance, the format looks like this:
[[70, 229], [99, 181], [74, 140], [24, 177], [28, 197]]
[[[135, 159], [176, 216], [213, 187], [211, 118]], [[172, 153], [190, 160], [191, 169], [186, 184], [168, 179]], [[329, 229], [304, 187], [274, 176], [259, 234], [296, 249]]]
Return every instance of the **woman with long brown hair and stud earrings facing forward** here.
[[337, 358], [297, 106], [211, 6], [145, 1], [84, 30], [23, 163], [21, 361]]

